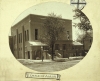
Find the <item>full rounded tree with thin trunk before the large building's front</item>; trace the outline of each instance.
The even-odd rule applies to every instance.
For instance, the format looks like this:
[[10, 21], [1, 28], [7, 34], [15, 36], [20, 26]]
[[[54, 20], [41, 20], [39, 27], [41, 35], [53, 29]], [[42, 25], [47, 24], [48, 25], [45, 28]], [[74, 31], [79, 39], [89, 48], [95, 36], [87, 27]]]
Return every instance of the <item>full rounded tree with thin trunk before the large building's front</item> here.
[[54, 56], [54, 44], [64, 34], [63, 22], [61, 16], [54, 13], [48, 14], [43, 24], [44, 33], [41, 35], [41, 41], [48, 44], [51, 48], [52, 60]]

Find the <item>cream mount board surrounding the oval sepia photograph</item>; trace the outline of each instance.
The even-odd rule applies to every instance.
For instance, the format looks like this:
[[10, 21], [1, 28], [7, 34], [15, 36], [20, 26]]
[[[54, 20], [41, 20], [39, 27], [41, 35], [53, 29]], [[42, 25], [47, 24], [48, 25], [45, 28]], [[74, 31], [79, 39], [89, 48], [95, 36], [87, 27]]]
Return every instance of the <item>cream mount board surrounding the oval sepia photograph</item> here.
[[[89, 20], [91, 21], [93, 31], [94, 31], [94, 39], [95, 40], [93, 40], [93, 45], [92, 45], [92, 48], [90, 49], [88, 55], [78, 66], [75, 66], [74, 69], [70, 68], [66, 71], [54, 72], [55, 74], [61, 75], [61, 81], [64, 81], [64, 80], [70, 80], [70, 81], [73, 81], [73, 80], [77, 80], [77, 81], [80, 81], [80, 80], [82, 80], [82, 81], [97, 80], [97, 81], [99, 81], [100, 80], [100, 78], [99, 78], [99, 75], [100, 75], [100, 72], [99, 72], [99, 67], [100, 67], [99, 66], [99, 64], [100, 64], [99, 46], [100, 45], [98, 44], [99, 41], [100, 41], [100, 39], [98, 38], [98, 36], [100, 34], [99, 33], [99, 26], [98, 26], [99, 25], [99, 13], [100, 12], [99, 12], [99, 10], [95, 11], [95, 8], [99, 7], [99, 5], [97, 4], [97, 2], [94, 2], [93, 0], [92, 1], [88, 0], [88, 2], [91, 2], [91, 3], [87, 4], [87, 7], [85, 7], [83, 11], [87, 15]], [[13, 2], [13, 1], [12, 2], [1, 1], [1, 7], [2, 8], [1, 8], [0, 17], [1, 17], [2, 21], [1, 21], [1, 24], [0, 24], [1, 25], [1, 36], [0, 37], [2, 37], [3, 34], [8, 35], [10, 26], [13, 23], [13, 21], [18, 17], [18, 15], [22, 11], [24, 11], [26, 8], [29, 8], [30, 6], [33, 5], [31, 1], [27, 1], [27, 3], [24, 3], [24, 4], [30, 3], [30, 6], [28, 6], [28, 5], [26, 6], [26, 5], [23, 4], [23, 8], [20, 7], [21, 8], [20, 9], [20, 8], [17, 8], [18, 7], [17, 5], [20, 4], [20, 3], [24, 3], [24, 1], [16, 1], [16, 0], [15, 0], [15, 2]], [[98, 3], [99, 3], [99, 1], [98, 1]], [[13, 4], [15, 4], [15, 5], [13, 5]], [[36, 4], [38, 4], [38, 2], [36, 2]], [[95, 5], [95, 4], [97, 4], [96, 7], [93, 7], [92, 5]], [[17, 11], [13, 10], [12, 6], [14, 8], [18, 9], [18, 10]], [[91, 11], [91, 9], [92, 9], [92, 11]], [[11, 12], [15, 15], [12, 16]], [[94, 17], [93, 14], [91, 14], [90, 12], [93, 13], [93, 14], [97, 14], [97, 15]], [[5, 16], [6, 16], [7, 19], [5, 19]], [[9, 21], [9, 22], [4, 24], [5, 23], [4, 19], [6, 21]], [[98, 22], [98, 24], [97, 24], [97, 22]], [[25, 78], [24, 75], [25, 75], [25, 72], [35, 72], [35, 73], [37, 73], [37, 72], [24, 67], [23, 65], [21, 65], [20, 63], [18, 63], [15, 60], [15, 58], [12, 56], [12, 53], [10, 52], [7, 40], [8, 40], [7, 37], [2, 37], [2, 39], [0, 41], [1, 46], [4, 46], [4, 47], [2, 47], [2, 50], [0, 50], [0, 52], [1, 52], [1, 57], [0, 57], [1, 58], [1, 60], [0, 60], [0, 64], [1, 64], [1, 67], [0, 67], [1, 78], [0, 79], [1, 79], [1, 81], [3, 81], [3, 80], [4, 81], [5, 80], [6, 81], [9, 81], [9, 80], [10, 81], [11, 80], [12, 81], [13, 80], [34, 81], [35, 80], [34, 78], [28, 78], [27, 79], [27, 78]], [[16, 64], [17, 64], [17, 67], [16, 67]], [[80, 68], [78, 68], [78, 67], [80, 67]], [[36, 80], [40, 80], [40, 79], [36, 79]], [[41, 79], [41, 80], [44, 80], [44, 79]], [[49, 80], [52, 80], [52, 79], [49, 79]], [[46, 81], [49, 81], [49, 80], [46, 79]]]

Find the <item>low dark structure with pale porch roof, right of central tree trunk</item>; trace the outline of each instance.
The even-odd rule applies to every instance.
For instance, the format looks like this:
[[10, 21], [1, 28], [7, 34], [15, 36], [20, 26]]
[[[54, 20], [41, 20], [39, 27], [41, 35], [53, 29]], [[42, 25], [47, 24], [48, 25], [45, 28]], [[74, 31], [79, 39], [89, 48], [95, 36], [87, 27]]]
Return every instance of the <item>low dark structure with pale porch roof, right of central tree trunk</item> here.
[[55, 43], [55, 54], [58, 57], [68, 58], [82, 56], [83, 44], [72, 40], [59, 40]]

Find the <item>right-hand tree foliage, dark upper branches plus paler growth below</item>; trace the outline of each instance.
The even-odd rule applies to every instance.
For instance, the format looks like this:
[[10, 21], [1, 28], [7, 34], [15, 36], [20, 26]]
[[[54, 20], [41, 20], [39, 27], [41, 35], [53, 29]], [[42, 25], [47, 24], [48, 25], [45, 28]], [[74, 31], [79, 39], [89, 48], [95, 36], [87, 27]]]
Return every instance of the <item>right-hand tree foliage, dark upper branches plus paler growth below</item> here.
[[88, 34], [88, 32], [92, 33], [92, 26], [87, 16], [81, 10], [75, 9], [73, 11], [75, 12], [75, 15], [73, 16], [73, 18], [80, 20], [80, 22], [74, 23], [73, 26], [78, 27], [78, 29], [85, 32], [81, 35], [77, 34], [78, 35], [77, 41], [83, 41], [84, 36]]

